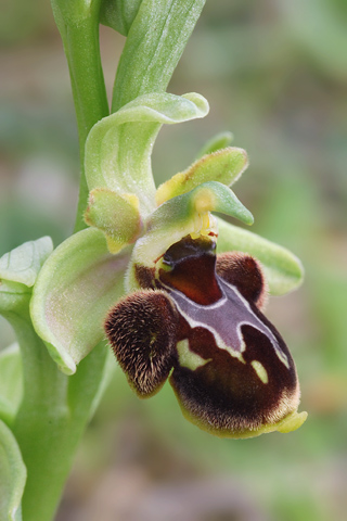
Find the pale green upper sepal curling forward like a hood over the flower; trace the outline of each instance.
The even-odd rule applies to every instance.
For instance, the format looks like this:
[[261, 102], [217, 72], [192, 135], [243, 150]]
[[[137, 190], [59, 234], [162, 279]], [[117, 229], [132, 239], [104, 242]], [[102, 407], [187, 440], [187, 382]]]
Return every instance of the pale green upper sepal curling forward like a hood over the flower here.
[[160, 126], [204, 117], [207, 112], [207, 101], [200, 94], [153, 93], [103, 118], [86, 142], [89, 190], [108, 188], [119, 194], [134, 193], [141, 214], [151, 213], [155, 208], [151, 153]]

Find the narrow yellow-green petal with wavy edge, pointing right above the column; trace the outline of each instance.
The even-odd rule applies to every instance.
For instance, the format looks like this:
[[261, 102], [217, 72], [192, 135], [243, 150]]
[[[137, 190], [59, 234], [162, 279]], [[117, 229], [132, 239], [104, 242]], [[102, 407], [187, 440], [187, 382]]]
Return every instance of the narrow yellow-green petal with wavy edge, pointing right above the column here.
[[168, 199], [187, 193], [203, 182], [218, 181], [227, 187], [233, 185], [248, 166], [243, 149], [229, 147], [195, 161], [185, 171], [176, 174], [159, 186], [155, 199], [157, 205]]

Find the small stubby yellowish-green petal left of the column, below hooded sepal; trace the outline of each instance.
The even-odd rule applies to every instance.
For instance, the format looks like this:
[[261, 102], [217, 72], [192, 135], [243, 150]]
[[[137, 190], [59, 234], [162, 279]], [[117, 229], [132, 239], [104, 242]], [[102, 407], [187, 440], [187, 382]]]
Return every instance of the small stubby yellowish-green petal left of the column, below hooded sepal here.
[[134, 194], [119, 195], [106, 188], [95, 188], [89, 194], [85, 220], [101, 230], [111, 253], [131, 244], [141, 231], [139, 200]]

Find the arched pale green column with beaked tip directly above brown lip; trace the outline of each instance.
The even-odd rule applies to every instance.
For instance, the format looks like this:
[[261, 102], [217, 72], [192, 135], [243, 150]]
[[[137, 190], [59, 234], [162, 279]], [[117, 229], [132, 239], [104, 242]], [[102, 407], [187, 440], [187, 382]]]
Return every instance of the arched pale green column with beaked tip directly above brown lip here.
[[[147, 231], [136, 242], [132, 264], [153, 267], [172, 244], [183, 237], [208, 234], [214, 228], [214, 218], [209, 212], [228, 214], [242, 223], [250, 225], [250, 212], [239, 201], [230, 188], [220, 182], [205, 182], [188, 193], [163, 203], [149, 218]], [[217, 230], [213, 230], [216, 231]], [[127, 274], [128, 291], [136, 290], [138, 283], [130, 267]]]

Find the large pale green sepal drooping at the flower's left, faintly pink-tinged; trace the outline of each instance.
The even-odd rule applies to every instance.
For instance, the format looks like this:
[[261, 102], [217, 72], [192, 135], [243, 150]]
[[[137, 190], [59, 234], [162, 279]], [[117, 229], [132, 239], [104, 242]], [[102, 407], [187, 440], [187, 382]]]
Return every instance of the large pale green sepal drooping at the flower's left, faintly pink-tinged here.
[[103, 233], [89, 228], [63, 242], [33, 292], [34, 327], [63, 372], [72, 374], [102, 340], [103, 319], [124, 294], [129, 252], [112, 255]]

